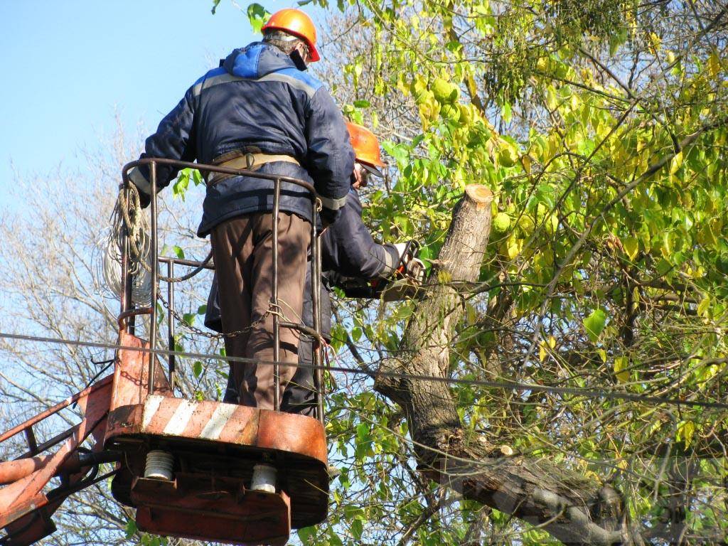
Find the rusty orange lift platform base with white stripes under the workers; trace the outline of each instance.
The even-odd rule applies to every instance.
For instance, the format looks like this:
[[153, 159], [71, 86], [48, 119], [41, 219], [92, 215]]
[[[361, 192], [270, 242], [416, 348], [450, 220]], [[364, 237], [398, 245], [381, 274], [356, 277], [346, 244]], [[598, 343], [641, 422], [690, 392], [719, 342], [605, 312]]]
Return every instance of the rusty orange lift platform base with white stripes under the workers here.
[[[122, 333], [127, 347], [144, 347]], [[311, 417], [173, 396], [156, 364], [149, 395], [146, 353], [119, 351], [106, 449], [122, 451], [111, 493], [137, 509], [143, 531], [238, 545], [280, 544], [290, 529], [328, 511], [323, 425]], [[143, 478], [146, 454], [173, 455], [173, 481]], [[277, 468], [275, 494], [249, 491], [253, 466]]]

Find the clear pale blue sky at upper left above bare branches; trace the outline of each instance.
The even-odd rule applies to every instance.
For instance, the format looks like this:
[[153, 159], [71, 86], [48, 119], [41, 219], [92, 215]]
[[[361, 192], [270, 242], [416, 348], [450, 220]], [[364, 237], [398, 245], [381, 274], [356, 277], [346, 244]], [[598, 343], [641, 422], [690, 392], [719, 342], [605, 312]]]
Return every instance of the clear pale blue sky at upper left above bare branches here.
[[[293, 2], [261, 2], [269, 11]], [[240, 3], [247, 7], [247, 2]], [[253, 41], [222, 0], [0, 0], [0, 205], [21, 174], [73, 167], [76, 151], [126, 127], [154, 130], [210, 62]], [[133, 133], [132, 133], [133, 134]], [[135, 158], [129, 158], [135, 159]]]

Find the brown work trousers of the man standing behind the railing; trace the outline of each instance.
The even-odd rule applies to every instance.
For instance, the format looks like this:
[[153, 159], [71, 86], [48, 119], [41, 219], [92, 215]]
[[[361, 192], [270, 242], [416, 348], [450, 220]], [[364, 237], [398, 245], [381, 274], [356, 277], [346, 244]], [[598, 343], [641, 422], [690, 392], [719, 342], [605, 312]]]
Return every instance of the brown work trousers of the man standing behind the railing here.
[[[298, 324], [303, 307], [306, 254], [311, 224], [300, 216], [280, 213], [278, 221], [278, 305], [283, 317]], [[211, 234], [215, 272], [220, 290], [224, 333], [250, 327], [247, 333], [225, 338], [228, 356], [273, 360], [273, 215], [253, 213], [224, 221]], [[298, 333], [280, 328], [280, 362], [298, 363]], [[280, 366], [280, 400], [295, 366]], [[269, 363], [230, 364], [238, 401], [274, 409], [273, 366]]]

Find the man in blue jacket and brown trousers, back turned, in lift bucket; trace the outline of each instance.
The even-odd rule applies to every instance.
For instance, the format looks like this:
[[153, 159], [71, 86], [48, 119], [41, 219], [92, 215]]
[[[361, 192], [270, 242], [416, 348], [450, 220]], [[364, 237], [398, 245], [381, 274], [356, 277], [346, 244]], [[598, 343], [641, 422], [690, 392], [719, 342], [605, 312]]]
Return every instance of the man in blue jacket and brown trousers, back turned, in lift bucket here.
[[[259, 173], [300, 178], [314, 185], [324, 223], [339, 215], [349, 191], [354, 153], [344, 119], [323, 84], [306, 74], [318, 60], [316, 31], [298, 9], [275, 13], [264, 38], [234, 50], [220, 68], [187, 90], [146, 140], [144, 157], [167, 157]], [[157, 165], [157, 189], [178, 168]], [[149, 167], [130, 172], [144, 205], [151, 199]], [[227, 355], [273, 360], [272, 183], [260, 178], [207, 175], [207, 194], [197, 234], [210, 234], [221, 294]], [[282, 183], [279, 220], [278, 309], [288, 320], [301, 316], [306, 251], [313, 215], [308, 192]], [[298, 362], [298, 339], [281, 329], [280, 360]], [[295, 372], [280, 367], [281, 391]], [[273, 408], [271, 365], [232, 363], [238, 402]]]

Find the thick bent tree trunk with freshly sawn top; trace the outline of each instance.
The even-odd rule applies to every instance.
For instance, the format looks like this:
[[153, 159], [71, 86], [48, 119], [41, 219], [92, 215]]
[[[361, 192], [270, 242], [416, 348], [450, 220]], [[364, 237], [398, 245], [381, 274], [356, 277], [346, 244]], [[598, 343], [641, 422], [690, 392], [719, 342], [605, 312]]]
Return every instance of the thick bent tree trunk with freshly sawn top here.
[[465, 499], [542, 526], [565, 543], [629, 542], [622, 501], [612, 488], [545, 460], [508, 456], [480, 436], [468, 438], [446, 382], [389, 375], [450, 376], [449, 347], [464, 304], [448, 281], [478, 280], [491, 230], [491, 201], [485, 186], [465, 189], [432, 267], [427, 296], [405, 329], [401, 356], [381, 363], [375, 389], [405, 411], [419, 469]]

